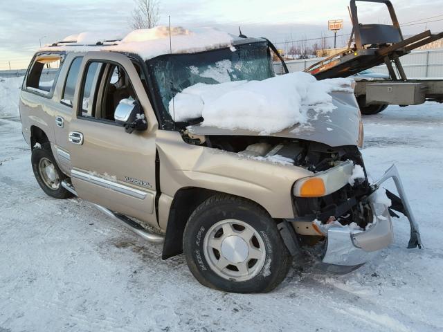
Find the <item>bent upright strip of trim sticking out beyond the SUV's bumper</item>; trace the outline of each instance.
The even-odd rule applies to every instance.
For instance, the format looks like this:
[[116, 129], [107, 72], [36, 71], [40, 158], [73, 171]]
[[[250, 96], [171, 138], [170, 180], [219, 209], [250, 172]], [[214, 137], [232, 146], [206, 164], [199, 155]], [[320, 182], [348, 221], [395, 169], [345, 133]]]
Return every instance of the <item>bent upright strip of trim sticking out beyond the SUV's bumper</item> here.
[[410, 239], [408, 243], [408, 248], [422, 248], [422, 239], [420, 238], [420, 232], [418, 223], [415, 220], [415, 216], [413, 214], [412, 209], [410, 208], [408, 197], [406, 196], [406, 192], [404, 190], [403, 184], [400, 180], [400, 174], [397, 170], [397, 167], [395, 165], [392, 165], [388, 168], [388, 170], [377, 180], [372, 187], [374, 188], [374, 191], [379, 189], [381, 183], [385, 182], [389, 178], [392, 178], [395, 183], [395, 187], [397, 187], [397, 192], [399, 193], [400, 199], [403, 203], [404, 210], [406, 212], [406, 216], [408, 217], [409, 224], [410, 224]]

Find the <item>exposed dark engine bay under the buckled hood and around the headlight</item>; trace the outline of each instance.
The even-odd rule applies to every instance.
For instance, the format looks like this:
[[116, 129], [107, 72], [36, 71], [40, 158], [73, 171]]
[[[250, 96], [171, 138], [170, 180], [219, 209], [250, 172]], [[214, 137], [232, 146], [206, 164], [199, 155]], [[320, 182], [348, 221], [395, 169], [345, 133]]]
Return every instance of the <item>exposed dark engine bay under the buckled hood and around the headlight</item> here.
[[[361, 153], [356, 146], [329, 147], [309, 140], [261, 136], [188, 136], [183, 140], [238, 154], [244, 158], [265, 160], [303, 167], [311, 172], [323, 172], [346, 160], [352, 160], [364, 170]], [[321, 197], [293, 196], [293, 208], [299, 221], [316, 220], [323, 225], [340, 223], [364, 230], [372, 223], [372, 211], [367, 197], [372, 193], [368, 178]], [[342, 213], [343, 212], [343, 213]]]

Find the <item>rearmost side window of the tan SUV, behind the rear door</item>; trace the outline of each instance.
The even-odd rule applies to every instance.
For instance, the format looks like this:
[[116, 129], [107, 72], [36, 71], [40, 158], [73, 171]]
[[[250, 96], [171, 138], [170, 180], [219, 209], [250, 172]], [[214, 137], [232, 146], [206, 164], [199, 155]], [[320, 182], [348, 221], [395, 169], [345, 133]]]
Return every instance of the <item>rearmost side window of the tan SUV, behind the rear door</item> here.
[[37, 57], [28, 74], [26, 89], [49, 95], [55, 86], [61, 65], [62, 57], [60, 55]]

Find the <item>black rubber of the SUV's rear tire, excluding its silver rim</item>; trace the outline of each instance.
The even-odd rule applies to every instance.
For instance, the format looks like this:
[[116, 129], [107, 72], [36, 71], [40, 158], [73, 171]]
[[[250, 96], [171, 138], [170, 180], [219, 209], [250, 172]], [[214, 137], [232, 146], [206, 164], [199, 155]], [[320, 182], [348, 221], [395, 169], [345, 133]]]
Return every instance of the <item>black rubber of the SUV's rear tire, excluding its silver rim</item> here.
[[32, 151], [31, 164], [33, 165], [34, 176], [42, 190], [48, 196], [54, 197], [55, 199], [68, 199], [69, 197], [73, 196], [71, 192], [64, 189], [64, 187], [62, 187], [62, 185], [60, 184], [57, 188], [49, 187], [48, 185], [46, 185], [44, 178], [39, 171], [39, 163], [40, 160], [42, 160], [43, 158], [48, 159], [54, 165], [55, 174], [60, 179], [60, 182], [68, 178], [68, 176], [63, 174], [63, 172], [58, 167], [57, 162], [55, 161], [55, 158], [51, 151], [51, 143], [44, 143], [41, 146], [36, 145]]

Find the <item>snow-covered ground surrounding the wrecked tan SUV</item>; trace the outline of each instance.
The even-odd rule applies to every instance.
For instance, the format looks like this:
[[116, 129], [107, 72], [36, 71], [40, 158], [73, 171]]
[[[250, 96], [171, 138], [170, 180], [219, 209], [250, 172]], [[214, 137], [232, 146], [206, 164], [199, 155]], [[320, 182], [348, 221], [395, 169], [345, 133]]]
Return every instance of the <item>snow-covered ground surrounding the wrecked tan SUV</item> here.
[[423, 250], [406, 249], [408, 222], [395, 219], [395, 243], [354, 273], [294, 265], [272, 293], [235, 295], [88, 203], [45, 196], [3, 88], [0, 331], [443, 331], [443, 105], [364, 118], [366, 166], [377, 178], [397, 163]]

